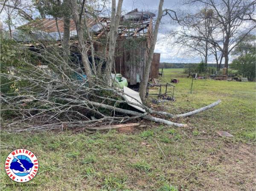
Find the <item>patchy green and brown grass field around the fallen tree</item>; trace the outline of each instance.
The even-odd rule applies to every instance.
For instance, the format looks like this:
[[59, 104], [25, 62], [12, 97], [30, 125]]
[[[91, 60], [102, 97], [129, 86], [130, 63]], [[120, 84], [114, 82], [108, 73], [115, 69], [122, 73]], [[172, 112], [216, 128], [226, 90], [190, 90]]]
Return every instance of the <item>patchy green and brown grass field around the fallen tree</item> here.
[[[221, 104], [168, 127], [142, 121], [131, 131], [87, 134], [1, 132], [1, 190], [255, 191], [255, 82], [194, 80], [182, 69], [164, 69], [162, 82], [177, 78], [174, 102], [152, 104], [184, 113], [218, 99]], [[153, 90], [157, 91], [157, 90]], [[151, 97], [149, 98], [150, 101]], [[232, 138], [219, 137], [224, 130]], [[15, 148], [39, 159], [36, 187], [11, 188], [4, 160]]]

